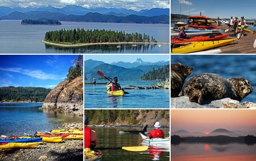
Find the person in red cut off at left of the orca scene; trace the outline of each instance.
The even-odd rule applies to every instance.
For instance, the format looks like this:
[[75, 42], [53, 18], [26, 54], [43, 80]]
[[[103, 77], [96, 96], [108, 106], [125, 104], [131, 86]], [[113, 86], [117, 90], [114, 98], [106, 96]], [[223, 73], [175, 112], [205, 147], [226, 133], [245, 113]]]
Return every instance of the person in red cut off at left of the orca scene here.
[[84, 116], [84, 149], [95, 149], [97, 146], [97, 134], [95, 131], [88, 127], [89, 120]]

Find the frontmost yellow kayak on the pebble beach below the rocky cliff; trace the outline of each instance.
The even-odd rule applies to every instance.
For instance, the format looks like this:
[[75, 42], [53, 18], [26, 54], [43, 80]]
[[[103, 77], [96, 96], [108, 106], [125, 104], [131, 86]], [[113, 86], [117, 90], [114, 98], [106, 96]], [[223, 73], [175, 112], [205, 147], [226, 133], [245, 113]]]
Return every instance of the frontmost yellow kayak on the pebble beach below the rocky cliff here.
[[38, 146], [42, 142], [9, 142], [0, 144], [0, 149], [21, 149]]

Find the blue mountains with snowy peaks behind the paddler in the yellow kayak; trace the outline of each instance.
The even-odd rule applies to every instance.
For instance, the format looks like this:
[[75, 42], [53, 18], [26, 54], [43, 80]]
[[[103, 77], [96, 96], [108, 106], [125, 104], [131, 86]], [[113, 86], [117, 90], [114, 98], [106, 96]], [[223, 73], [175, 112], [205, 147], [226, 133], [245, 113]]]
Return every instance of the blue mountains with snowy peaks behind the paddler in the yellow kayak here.
[[148, 70], [152, 70], [153, 68], [158, 69], [169, 64], [169, 60], [144, 62], [140, 58], [133, 62], [118, 61], [112, 62], [111, 64], [88, 59], [84, 61], [84, 79], [92, 80], [93, 77], [101, 78], [101, 76], [97, 75], [97, 71], [100, 70], [107, 77], [113, 78], [117, 76], [119, 80], [140, 80], [141, 76], [147, 73]]

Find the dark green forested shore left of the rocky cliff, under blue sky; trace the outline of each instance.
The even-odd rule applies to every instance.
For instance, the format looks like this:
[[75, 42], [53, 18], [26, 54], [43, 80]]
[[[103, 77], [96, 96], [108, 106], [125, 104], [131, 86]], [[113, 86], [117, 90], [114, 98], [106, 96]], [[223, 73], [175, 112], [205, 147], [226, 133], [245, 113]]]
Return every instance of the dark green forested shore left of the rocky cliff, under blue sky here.
[[1, 87], [0, 102], [43, 102], [50, 90], [42, 87]]

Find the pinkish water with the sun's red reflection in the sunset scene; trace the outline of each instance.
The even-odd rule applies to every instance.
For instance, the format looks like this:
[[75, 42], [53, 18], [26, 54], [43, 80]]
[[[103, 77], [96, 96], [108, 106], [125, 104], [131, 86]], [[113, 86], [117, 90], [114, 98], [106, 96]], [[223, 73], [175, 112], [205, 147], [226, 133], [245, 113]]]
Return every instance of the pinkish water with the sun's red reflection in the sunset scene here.
[[171, 144], [171, 160], [255, 160], [256, 146], [241, 143], [180, 143]]

